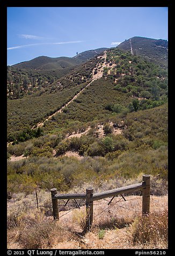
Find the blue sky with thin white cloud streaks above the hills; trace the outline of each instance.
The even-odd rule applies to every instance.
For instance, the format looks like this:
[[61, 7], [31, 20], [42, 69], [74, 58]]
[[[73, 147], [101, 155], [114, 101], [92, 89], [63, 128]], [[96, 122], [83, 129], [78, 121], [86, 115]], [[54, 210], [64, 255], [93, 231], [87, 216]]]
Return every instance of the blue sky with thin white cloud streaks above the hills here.
[[135, 36], [168, 39], [166, 7], [9, 7], [8, 65], [75, 56]]

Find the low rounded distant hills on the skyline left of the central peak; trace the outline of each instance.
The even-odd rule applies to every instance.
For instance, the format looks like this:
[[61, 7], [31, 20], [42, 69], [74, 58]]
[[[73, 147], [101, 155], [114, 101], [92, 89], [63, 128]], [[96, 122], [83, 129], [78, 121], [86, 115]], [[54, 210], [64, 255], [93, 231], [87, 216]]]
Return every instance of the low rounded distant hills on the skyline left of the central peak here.
[[50, 69], [63, 69], [70, 68], [88, 61], [90, 58], [95, 57], [107, 48], [98, 48], [90, 51], [79, 53], [78, 55], [69, 57], [50, 58], [47, 56], [39, 56], [29, 61], [24, 61], [12, 65], [12, 67], [20, 69], [35, 69], [35, 70], [50, 70]]

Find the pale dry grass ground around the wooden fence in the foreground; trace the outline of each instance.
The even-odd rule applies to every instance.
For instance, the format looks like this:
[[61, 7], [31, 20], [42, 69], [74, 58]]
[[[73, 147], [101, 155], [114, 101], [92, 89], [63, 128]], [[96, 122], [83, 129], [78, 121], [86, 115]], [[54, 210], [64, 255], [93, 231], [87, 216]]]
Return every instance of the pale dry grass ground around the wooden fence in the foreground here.
[[50, 193], [40, 191], [38, 197], [39, 211], [35, 193], [8, 201], [8, 248], [167, 248], [167, 195], [151, 196], [148, 223], [141, 219], [142, 196], [118, 196], [110, 205], [111, 198], [94, 201], [93, 224], [85, 234], [83, 202], [81, 209], [68, 203], [55, 222], [48, 214]]

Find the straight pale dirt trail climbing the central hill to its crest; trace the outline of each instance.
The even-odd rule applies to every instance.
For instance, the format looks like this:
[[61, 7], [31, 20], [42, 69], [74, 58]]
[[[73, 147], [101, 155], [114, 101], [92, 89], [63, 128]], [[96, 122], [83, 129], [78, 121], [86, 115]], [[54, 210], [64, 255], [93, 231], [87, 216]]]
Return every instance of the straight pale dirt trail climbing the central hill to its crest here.
[[[91, 82], [89, 82], [81, 91], [79, 91], [79, 93], [77, 93], [72, 99], [70, 99], [70, 101], [69, 101], [68, 103], [66, 103], [65, 105], [63, 105], [61, 109], [57, 110], [55, 113], [53, 113], [52, 115], [50, 115], [50, 116], [49, 116], [48, 118], [46, 118], [43, 122], [38, 123], [38, 124], [37, 124], [37, 127], [43, 126], [43, 124], [44, 124], [45, 122], [47, 122], [49, 119], [51, 119], [51, 118], [52, 118], [53, 116], [55, 116], [57, 113], [61, 113], [61, 112], [63, 111], [63, 109], [64, 109], [66, 106], [68, 106], [72, 101], [74, 101], [74, 99], [76, 99], [76, 98], [85, 90], [85, 88], [87, 88], [88, 86], [90, 86], [90, 84], [91, 84], [94, 80], [100, 79], [100, 77], [103, 76], [103, 69], [104, 69], [104, 67], [107, 66], [107, 65], [106, 65], [106, 56], [107, 56], [106, 51], [104, 52], [104, 55], [98, 56], [98, 58], [104, 59], [104, 63], [102, 64], [102, 66], [101, 66], [100, 68], [99, 68], [99, 65], [98, 65], [98, 71], [97, 71], [97, 73], [95, 72], [95, 69], [97, 68], [97, 66], [94, 67], [94, 69], [92, 70], [92, 80], [91, 80]], [[95, 73], [96, 73], [96, 74], [95, 74]], [[34, 125], [34, 126], [32, 127], [32, 129], [34, 129], [35, 127], [36, 127], [36, 126]]]

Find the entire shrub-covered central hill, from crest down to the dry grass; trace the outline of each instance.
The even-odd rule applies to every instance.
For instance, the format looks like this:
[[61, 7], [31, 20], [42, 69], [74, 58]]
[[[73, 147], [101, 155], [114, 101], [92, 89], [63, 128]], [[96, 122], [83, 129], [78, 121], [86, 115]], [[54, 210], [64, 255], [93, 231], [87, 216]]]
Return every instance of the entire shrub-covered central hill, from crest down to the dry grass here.
[[[141, 171], [166, 180], [167, 74], [161, 70], [113, 48], [42, 94], [9, 101], [8, 158], [21, 157], [18, 167], [8, 163], [9, 189], [32, 191], [37, 182], [67, 190], [90, 177], [130, 179]], [[68, 160], [72, 152], [89, 163]], [[13, 184], [18, 173], [25, 181], [20, 187]]]

